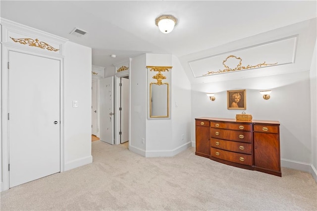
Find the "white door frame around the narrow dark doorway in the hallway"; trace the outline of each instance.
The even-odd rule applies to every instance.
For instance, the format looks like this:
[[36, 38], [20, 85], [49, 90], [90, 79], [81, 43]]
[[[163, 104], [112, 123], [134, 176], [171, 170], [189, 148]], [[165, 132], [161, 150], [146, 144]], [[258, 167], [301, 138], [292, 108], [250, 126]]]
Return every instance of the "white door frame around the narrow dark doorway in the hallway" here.
[[[126, 71], [126, 72], [120, 72], [119, 74], [115, 75], [115, 144], [121, 144], [120, 143], [120, 101], [121, 101], [121, 96], [120, 96], [120, 78], [124, 77], [124, 76], [129, 76], [129, 80], [130, 80], [130, 71]], [[131, 98], [130, 95], [130, 90], [131, 90], [131, 83], [129, 83], [129, 96]], [[130, 98], [129, 98], [129, 111], [131, 111], [131, 106], [130, 106]], [[129, 112], [129, 140], [130, 140], [130, 113]], [[130, 148], [130, 142], [129, 142], [129, 148]]]

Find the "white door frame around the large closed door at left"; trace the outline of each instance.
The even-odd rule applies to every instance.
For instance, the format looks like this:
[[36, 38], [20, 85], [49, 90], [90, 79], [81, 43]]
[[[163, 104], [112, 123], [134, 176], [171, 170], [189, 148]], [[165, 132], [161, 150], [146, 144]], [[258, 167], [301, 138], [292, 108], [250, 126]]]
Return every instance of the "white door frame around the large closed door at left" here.
[[26, 53], [35, 56], [42, 56], [50, 59], [56, 59], [60, 61], [60, 172], [64, 171], [64, 56], [60, 54], [53, 54], [47, 52], [41, 52], [36, 50], [29, 50], [25, 48], [19, 48], [13, 46], [12, 44], [2, 43], [2, 66], [1, 66], [1, 128], [2, 128], [2, 146], [1, 146], [1, 156], [2, 156], [2, 172], [0, 181], [0, 191], [9, 189], [9, 142], [8, 142], [8, 53], [9, 51], [14, 51], [18, 53]]

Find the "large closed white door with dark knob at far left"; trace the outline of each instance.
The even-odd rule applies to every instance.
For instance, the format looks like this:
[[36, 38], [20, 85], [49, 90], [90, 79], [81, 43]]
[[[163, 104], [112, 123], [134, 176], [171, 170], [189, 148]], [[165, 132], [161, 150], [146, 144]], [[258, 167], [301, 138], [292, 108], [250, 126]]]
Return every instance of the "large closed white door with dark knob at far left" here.
[[9, 187], [60, 171], [60, 61], [9, 52]]

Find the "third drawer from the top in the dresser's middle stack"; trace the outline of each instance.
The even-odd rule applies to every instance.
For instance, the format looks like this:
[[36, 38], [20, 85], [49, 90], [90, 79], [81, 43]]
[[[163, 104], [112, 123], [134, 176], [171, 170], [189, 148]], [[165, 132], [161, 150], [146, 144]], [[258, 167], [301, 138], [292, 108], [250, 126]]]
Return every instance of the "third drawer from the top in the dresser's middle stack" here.
[[221, 139], [211, 138], [211, 147], [218, 148], [222, 150], [244, 153], [244, 154], [252, 154], [252, 144], [242, 143], [242, 142], [234, 142], [234, 141], [226, 141]]

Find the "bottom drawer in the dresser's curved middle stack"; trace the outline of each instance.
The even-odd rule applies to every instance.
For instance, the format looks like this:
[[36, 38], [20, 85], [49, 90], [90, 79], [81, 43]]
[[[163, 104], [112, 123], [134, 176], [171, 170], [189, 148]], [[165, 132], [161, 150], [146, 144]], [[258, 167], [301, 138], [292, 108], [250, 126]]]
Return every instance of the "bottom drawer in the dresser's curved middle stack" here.
[[214, 158], [219, 158], [223, 160], [227, 160], [230, 162], [240, 163], [243, 165], [252, 165], [252, 156], [241, 154], [241, 153], [234, 153], [225, 150], [220, 150], [216, 148], [211, 148], [211, 156]]

